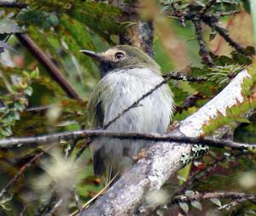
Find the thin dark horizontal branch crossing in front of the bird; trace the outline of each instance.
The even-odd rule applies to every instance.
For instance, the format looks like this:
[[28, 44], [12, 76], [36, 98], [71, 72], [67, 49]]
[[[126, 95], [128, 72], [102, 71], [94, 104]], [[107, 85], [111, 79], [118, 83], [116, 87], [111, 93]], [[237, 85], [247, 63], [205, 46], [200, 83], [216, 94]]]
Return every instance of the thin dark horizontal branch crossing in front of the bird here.
[[13, 148], [20, 146], [38, 146], [60, 142], [61, 140], [82, 139], [82, 138], [108, 137], [113, 139], [143, 139], [162, 142], [177, 142], [183, 144], [201, 144], [212, 147], [230, 147], [234, 149], [256, 149], [256, 144], [236, 143], [230, 140], [203, 139], [201, 137], [174, 136], [172, 134], [140, 134], [112, 132], [106, 130], [79, 130], [73, 132], [64, 132], [59, 134], [48, 134], [37, 137], [11, 138], [0, 140], [0, 148]]

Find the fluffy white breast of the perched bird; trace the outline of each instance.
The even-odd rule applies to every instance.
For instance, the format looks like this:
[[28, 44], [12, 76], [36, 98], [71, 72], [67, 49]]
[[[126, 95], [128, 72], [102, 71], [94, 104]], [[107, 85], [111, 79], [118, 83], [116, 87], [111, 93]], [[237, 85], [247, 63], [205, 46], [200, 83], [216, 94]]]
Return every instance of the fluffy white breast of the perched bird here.
[[[104, 124], [119, 116], [143, 94], [163, 81], [160, 74], [148, 68], [135, 68], [108, 74], [102, 82], [108, 83], [110, 92], [102, 94]], [[108, 102], [107, 102], [108, 101]], [[166, 86], [156, 89], [135, 108], [125, 112], [108, 130], [166, 133], [172, 116], [172, 92]]]

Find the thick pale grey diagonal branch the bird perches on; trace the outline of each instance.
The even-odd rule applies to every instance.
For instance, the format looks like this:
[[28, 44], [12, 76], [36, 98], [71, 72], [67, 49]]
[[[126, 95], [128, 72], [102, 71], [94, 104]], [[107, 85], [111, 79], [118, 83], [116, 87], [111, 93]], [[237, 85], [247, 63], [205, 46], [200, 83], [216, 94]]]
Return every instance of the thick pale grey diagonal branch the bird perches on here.
[[[243, 100], [241, 83], [245, 77], [250, 76], [246, 70], [241, 71], [222, 92], [195, 114], [183, 120], [180, 126], [170, 134], [200, 137], [203, 134], [202, 126], [209, 119], [218, 117], [218, 112], [225, 115], [227, 107], [236, 105], [237, 101]], [[140, 205], [145, 204], [148, 191], [159, 190], [182, 167], [181, 158], [184, 154], [189, 154], [190, 151], [190, 145], [156, 142], [148, 149], [147, 156], [138, 161], [95, 204], [85, 209], [83, 215], [142, 213]]]

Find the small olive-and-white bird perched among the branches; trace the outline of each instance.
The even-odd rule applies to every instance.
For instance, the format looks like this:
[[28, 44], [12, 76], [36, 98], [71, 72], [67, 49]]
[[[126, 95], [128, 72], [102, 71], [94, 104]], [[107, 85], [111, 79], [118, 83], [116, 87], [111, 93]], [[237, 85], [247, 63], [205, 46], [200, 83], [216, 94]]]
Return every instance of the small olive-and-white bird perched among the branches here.
[[[129, 45], [114, 46], [102, 53], [86, 49], [80, 52], [96, 60], [101, 73], [88, 102], [91, 128], [166, 134], [174, 111], [171, 89], [165, 83], [141, 99], [164, 81], [160, 65], [140, 48]], [[138, 99], [141, 100], [135, 107], [125, 111]], [[92, 139], [90, 150], [96, 177], [105, 173], [109, 180], [117, 173], [125, 173], [134, 163], [134, 157], [153, 143], [106, 137]]]

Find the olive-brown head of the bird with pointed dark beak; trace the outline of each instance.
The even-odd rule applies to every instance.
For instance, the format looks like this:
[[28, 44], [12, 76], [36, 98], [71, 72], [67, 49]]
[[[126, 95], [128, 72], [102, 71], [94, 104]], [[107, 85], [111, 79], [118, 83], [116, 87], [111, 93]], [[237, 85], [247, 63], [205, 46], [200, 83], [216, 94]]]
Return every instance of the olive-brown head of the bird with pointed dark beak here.
[[119, 45], [109, 48], [102, 53], [82, 49], [81, 53], [87, 54], [100, 63], [101, 75], [104, 77], [108, 72], [125, 68], [151, 68], [160, 71], [160, 66], [139, 48], [128, 45]]

